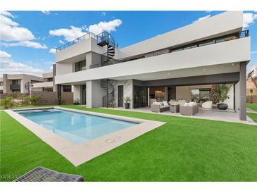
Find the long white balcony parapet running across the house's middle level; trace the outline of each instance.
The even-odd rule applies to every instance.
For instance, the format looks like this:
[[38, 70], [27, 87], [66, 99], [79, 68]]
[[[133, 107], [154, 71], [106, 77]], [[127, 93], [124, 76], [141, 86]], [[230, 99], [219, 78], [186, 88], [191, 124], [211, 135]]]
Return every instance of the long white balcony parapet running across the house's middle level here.
[[[240, 33], [241, 36], [242, 33]], [[87, 80], [157, 80], [215, 73], [239, 72], [239, 62], [250, 60], [250, 37], [216, 41], [191, 49], [171, 51], [158, 56], [116, 63], [76, 73], [57, 75], [56, 84], [82, 84]]]

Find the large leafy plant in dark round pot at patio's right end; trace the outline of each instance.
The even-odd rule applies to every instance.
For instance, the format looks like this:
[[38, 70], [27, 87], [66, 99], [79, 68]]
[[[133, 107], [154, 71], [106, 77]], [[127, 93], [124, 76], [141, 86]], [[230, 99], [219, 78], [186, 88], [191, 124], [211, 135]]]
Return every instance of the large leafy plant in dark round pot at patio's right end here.
[[230, 97], [228, 94], [228, 92], [230, 91], [230, 88], [232, 87], [232, 85], [218, 85], [217, 89], [215, 91], [215, 95], [218, 99], [218, 101], [220, 101], [220, 103], [217, 104], [218, 109], [220, 110], [226, 110], [227, 109], [227, 104], [224, 103], [224, 101]]

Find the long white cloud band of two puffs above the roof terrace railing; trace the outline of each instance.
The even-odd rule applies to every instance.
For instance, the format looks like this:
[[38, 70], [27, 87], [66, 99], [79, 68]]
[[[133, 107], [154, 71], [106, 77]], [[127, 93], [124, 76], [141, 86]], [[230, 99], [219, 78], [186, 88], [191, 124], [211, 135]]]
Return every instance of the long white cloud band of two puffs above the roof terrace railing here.
[[111, 32], [115, 31], [116, 27], [122, 24], [122, 21], [119, 19], [111, 20], [109, 22], [99, 22], [94, 25], [89, 25], [87, 28], [86, 26], [82, 27], [75, 27], [75, 26], [70, 26], [70, 28], [61, 28], [57, 30], [50, 30], [49, 35], [54, 35], [54, 36], [63, 36], [65, 40], [68, 42], [73, 41], [77, 37], [81, 37], [82, 35], [86, 34], [87, 32], [92, 32], [95, 35], [98, 35], [99, 33], [103, 31]]

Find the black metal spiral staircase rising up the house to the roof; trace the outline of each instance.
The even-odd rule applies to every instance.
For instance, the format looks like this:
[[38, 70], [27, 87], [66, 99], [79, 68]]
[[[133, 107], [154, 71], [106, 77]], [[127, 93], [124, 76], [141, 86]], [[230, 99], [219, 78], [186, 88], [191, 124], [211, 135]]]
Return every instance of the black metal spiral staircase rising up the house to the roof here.
[[[113, 57], [115, 56], [115, 41], [108, 32], [102, 32], [96, 36], [97, 44], [99, 46], [106, 46], [107, 51], [101, 56], [101, 66], [108, 66], [115, 62]], [[104, 89], [106, 95], [103, 97], [103, 106], [113, 106], [114, 101], [114, 87], [109, 79], [101, 79], [101, 88]]]

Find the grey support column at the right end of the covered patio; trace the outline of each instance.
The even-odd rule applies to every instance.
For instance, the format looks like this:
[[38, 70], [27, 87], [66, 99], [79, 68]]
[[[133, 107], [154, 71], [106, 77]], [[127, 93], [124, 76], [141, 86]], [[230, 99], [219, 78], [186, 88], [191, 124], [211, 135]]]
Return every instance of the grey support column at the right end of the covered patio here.
[[239, 107], [240, 107], [240, 120], [246, 120], [246, 62], [240, 63], [240, 97], [239, 97]]

